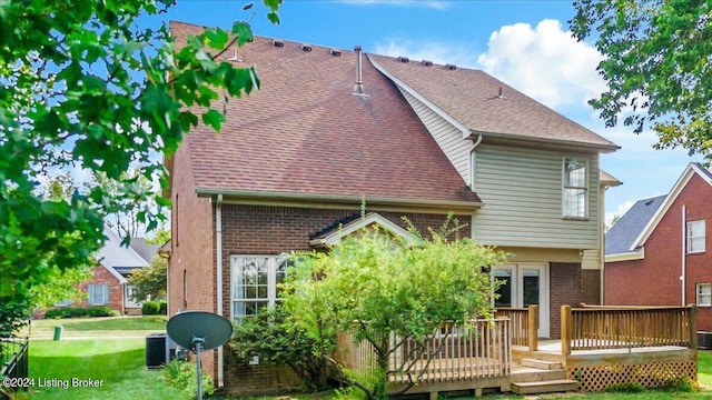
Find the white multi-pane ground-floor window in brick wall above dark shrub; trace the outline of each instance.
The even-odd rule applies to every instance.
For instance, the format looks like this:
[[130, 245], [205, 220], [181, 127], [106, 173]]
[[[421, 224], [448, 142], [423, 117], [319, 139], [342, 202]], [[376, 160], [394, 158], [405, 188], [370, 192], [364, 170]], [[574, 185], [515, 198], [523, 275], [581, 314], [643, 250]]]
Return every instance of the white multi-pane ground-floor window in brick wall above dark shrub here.
[[259, 313], [280, 299], [278, 288], [289, 261], [281, 256], [233, 256], [230, 287], [233, 319]]

